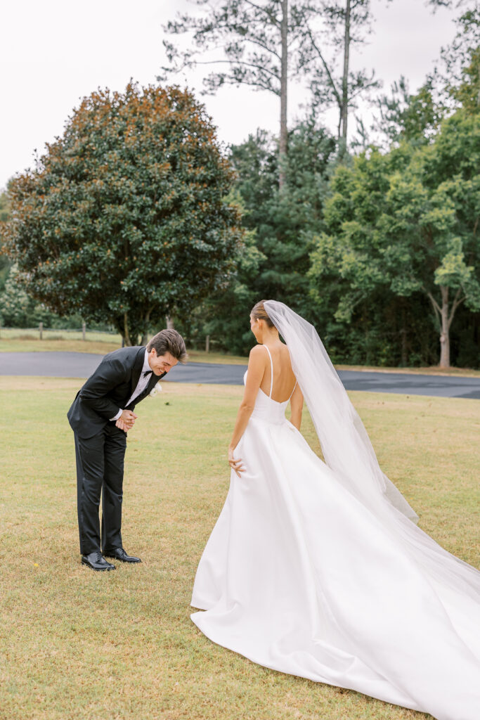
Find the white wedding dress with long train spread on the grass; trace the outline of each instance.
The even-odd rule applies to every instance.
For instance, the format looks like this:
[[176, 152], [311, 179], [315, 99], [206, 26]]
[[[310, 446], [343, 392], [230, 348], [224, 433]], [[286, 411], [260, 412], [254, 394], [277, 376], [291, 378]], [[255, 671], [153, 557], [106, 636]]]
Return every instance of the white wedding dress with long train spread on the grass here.
[[[273, 670], [438, 720], [479, 720], [480, 596], [471, 578], [480, 573], [402, 516], [415, 527], [404, 539], [390, 505], [392, 523], [371, 512], [286, 420], [289, 400], [271, 395], [258, 391], [235, 450], [245, 472], [231, 472], [196, 572], [191, 604], [205, 612], [192, 620]], [[427, 550], [416, 546], [420, 536]], [[435, 549], [458, 582], [443, 580]]]

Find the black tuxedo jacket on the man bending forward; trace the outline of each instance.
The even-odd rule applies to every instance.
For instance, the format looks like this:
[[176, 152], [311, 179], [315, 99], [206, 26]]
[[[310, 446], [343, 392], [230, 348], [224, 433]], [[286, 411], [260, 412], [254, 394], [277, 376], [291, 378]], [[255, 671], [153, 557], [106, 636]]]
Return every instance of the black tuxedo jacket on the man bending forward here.
[[104, 357], [93, 375], [77, 392], [68, 410], [68, 422], [81, 438], [91, 438], [101, 432], [110, 418], [122, 410], [133, 410], [155, 387], [162, 375], [151, 374], [147, 387], [130, 405], [145, 359], [145, 346], [120, 348]]

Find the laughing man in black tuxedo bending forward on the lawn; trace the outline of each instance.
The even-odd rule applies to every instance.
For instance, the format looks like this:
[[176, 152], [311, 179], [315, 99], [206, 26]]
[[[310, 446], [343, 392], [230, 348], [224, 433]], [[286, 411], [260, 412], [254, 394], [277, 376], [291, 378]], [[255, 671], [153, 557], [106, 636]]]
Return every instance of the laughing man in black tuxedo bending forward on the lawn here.
[[115, 569], [105, 556], [141, 562], [139, 557], [127, 555], [122, 545], [127, 430], [137, 419], [135, 405], [186, 356], [184, 338], [176, 330], [160, 330], [146, 347], [115, 350], [104, 357], [68, 410], [75, 436], [81, 562], [92, 570]]

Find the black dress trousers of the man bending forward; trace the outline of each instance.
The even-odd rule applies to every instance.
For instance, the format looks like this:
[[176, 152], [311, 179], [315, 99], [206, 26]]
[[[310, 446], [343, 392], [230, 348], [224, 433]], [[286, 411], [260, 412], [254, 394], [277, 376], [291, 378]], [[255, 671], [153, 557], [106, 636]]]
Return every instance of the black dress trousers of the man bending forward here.
[[[114, 423], [91, 438], [75, 434], [80, 552], [122, 547], [123, 465], [127, 436]], [[101, 539], [100, 508], [101, 495]]]

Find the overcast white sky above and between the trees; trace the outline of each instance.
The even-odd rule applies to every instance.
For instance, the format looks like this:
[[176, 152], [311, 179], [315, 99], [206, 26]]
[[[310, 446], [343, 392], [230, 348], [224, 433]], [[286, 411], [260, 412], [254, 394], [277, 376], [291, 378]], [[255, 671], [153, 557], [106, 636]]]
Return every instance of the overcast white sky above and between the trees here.
[[[375, 68], [387, 89], [403, 73], [417, 89], [433, 69], [440, 47], [455, 34], [455, 14], [432, 14], [424, 0], [372, 0], [376, 22], [369, 45], [352, 66]], [[155, 82], [163, 64], [162, 24], [187, 0], [14, 0], [1, 14], [0, 188], [32, 166], [35, 148], [63, 132], [78, 100], [97, 87], [122, 90], [132, 77]], [[200, 71], [189, 78], [201, 88]], [[291, 88], [290, 117], [299, 114], [302, 89]], [[206, 97], [219, 137], [238, 143], [257, 127], [278, 131], [279, 102], [248, 88]], [[325, 122], [335, 126], [335, 115]]]

